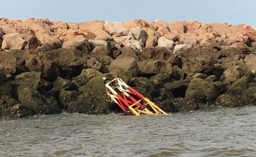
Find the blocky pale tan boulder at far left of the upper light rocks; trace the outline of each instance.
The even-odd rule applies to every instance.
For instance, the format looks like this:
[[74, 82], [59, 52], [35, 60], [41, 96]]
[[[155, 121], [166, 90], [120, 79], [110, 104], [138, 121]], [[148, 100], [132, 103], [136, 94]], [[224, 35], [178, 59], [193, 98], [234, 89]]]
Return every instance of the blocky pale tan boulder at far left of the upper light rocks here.
[[26, 40], [22, 39], [20, 33], [10, 33], [4, 36], [2, 49], [21, 50], [26, 46]]

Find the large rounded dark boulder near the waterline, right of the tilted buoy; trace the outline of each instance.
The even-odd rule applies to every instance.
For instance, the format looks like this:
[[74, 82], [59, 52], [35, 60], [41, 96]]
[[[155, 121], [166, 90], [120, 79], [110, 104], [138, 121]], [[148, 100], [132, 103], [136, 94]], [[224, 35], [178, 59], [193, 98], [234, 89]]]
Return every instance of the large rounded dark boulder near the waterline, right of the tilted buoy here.
[[185, 98], [198, 97], [197, 92], [191, 92], [193, 90], [204, 94], [206, 103], [212, 103], [218, 97], [214, 83], [205, 79], [193, 78], [186, 89]]

